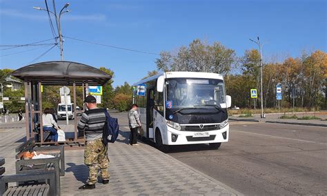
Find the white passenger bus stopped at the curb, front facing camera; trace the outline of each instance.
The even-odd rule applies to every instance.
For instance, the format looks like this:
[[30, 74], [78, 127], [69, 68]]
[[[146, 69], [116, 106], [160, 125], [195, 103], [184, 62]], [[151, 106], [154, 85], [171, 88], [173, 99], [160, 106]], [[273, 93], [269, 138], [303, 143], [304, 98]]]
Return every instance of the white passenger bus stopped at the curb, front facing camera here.
[[221, 75], [207, 72], [165, 72], [133, 85], [133, 103], [139, 106], [141, 137], [160, 150], [169, 145], [228, 141], [226, 96]]

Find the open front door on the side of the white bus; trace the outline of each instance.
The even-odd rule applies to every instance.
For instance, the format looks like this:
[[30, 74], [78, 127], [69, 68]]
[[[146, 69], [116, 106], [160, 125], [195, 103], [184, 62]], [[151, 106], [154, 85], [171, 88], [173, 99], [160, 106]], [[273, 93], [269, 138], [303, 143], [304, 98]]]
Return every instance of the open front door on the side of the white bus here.
[[153, 137], [153, 107], [155, 104], [155, 88], [147, 89], [146, 101], [146, 138]]

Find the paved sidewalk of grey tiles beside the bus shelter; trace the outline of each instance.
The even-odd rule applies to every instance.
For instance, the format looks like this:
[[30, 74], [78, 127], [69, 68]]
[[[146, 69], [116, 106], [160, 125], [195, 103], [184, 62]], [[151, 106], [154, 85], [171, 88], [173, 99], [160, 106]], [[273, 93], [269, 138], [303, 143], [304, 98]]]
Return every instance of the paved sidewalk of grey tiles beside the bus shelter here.
[[[88, 168], [83, 150], [66, 150], [66, 175], [61, 177], [61, 195], [241, 195], [236, 190], [182, 164], [148, 144], [129, 146], [128, 130], [121, 128], [110, 144], [110, 183], [97, 183], [94, 190], [78, 190], [86, 182]], [[10, 134], [8, 134], [10, 133]], [[14, 173], [14, 148], [23, 142], [23, 128], [1, 128], [0, 152], [8, 152], [6, 173]]]

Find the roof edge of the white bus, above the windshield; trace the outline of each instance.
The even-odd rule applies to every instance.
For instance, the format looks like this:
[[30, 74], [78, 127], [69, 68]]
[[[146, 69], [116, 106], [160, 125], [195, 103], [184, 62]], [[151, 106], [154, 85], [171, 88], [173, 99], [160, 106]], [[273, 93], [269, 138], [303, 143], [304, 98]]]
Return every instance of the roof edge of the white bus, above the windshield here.
[[138, 84], [146, 83], [147, 81], [151, 81], [153, 79], [157, 79], [160, 76], [164, 76], [165, 78], [204, 78], [204, 79], [221, 79], [224, 80], [222, 75], [217, 73], [210, 72], [163, 72], [152, 77], [148, 77], [137, 83], [133, 84], [133, 86], [137, 86]]

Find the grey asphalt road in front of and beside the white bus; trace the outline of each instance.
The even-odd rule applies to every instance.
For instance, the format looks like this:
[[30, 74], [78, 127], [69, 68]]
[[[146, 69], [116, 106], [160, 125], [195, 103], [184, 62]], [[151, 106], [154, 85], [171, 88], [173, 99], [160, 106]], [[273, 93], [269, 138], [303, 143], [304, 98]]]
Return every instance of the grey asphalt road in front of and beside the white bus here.
[[232, 122], [230, 141], [169, 155], [245, 195], [327, 195], [327, 128]]

